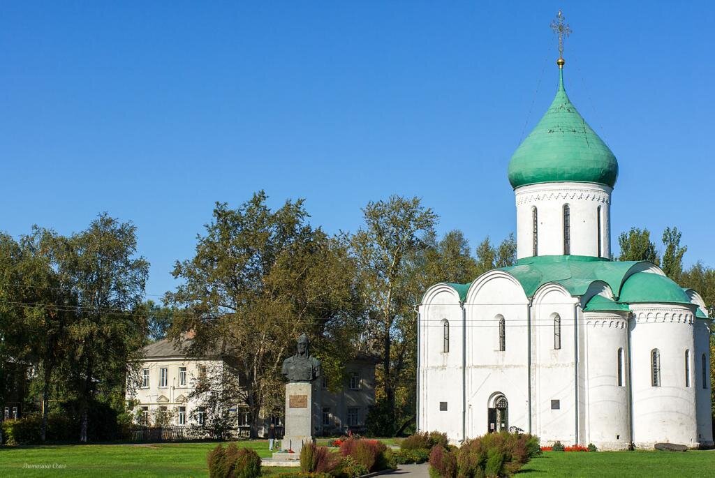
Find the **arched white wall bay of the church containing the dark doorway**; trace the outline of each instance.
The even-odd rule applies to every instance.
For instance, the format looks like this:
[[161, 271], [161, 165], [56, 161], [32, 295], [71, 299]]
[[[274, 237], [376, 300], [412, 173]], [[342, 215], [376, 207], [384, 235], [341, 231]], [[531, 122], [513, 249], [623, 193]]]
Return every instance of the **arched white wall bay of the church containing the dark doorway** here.
[[[528, 299], [506, 272], [486, 272], [473, 282], [465, 302], [467, 318], [466, 435], [488, 432], [488, 408], [497, 394], [508, 400], [508, 425], [528, 431]], [[504, 317], [506, 347], [499, 350]]]

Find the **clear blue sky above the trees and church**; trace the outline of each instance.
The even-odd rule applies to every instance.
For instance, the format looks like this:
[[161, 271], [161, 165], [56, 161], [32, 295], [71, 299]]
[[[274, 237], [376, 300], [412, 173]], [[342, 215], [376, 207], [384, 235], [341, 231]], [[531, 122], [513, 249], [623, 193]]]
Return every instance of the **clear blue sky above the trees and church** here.
[[[561, 3], [566, 89], [620, 165], [614, 248], [632, 225], [658, 241], [676, 225], [686, 262], [715, 266], [714, 4]], [[440, 232], [499, 241], [515, 229], [508, 160], [556, 92], [558, 8], [4, 1], [0, 229], [132, 220], [149, 294], [174, 287], [214, 201], [258, 189], [305, 198], [330, 232], [418, 195]]]

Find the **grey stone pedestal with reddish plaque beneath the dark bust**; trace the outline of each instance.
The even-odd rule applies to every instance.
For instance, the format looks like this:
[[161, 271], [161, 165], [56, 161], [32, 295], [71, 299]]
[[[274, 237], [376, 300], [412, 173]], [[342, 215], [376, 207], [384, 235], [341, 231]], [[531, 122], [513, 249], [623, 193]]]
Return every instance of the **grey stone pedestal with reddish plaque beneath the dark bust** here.
[[281, 448], [300, 454], [320, 423], [320, 389], [314, 382], [285, 384], [285, 435]]

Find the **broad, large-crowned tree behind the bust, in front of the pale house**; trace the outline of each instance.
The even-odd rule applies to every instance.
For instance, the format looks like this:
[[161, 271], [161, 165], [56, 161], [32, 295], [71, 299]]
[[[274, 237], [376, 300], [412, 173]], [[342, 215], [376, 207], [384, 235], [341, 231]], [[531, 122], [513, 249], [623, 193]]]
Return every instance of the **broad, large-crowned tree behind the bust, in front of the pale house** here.
[[300, 333], [320, 354], [358, 299], [344, 239], [312, 228], [302, 199], [275, 211], [266, 201], [259, 191], [238, 209], [216, 203], [194, 257], [174, 265], [184, 283], [164, 298], [183, 309], [169, 337], [194, 331], [192, 353], [214, 350], [237, 369], [241, 387], [223, 401], [245, 404], [253, 437], [260, 412], [283, 403], [280, 367]]

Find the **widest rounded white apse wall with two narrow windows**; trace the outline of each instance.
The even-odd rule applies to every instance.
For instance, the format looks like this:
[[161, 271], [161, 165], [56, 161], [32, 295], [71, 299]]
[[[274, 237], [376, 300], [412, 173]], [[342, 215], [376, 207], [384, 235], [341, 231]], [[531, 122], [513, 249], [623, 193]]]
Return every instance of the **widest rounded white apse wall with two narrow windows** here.
[[[631, 304], [631, 312], [633, 442], [643, 448], [658, 442], [696, 447], [696, 388], [692, 381], [686, 387], [685, 377], [685, 351], [694, 352], [694, 307]], [[651, 382], [653, 349], [660, 352], [660, 387]]]

